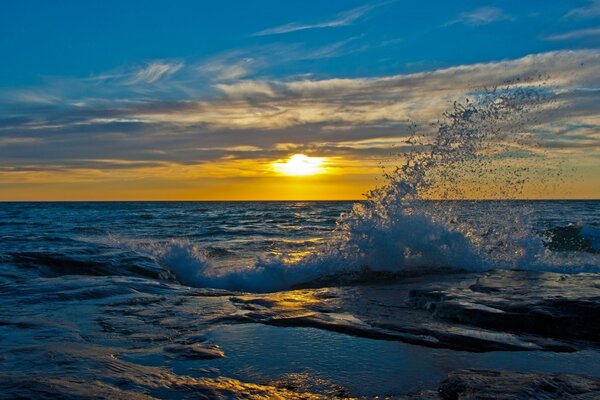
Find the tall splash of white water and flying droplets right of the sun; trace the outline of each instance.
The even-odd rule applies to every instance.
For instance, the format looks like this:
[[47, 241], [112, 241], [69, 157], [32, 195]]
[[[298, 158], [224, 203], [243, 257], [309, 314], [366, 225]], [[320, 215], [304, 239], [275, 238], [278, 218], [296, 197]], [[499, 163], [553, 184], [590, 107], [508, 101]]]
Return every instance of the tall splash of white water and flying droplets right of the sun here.
[[508, 85], [454, 103], [433, 138], [410, 140], [411, 151], [384, 174], [385, 183], [340, 217], [339, 252], [386, 271], [530, 264], [543, 246], [526, 213], [466, 221], [449, 200], [468, 198], [473, 188], [484, 197], [519, 196], [527, 167], [506, 168], [497, 156], [524, 139], [534, 111], [549, 100], [541, 86]]

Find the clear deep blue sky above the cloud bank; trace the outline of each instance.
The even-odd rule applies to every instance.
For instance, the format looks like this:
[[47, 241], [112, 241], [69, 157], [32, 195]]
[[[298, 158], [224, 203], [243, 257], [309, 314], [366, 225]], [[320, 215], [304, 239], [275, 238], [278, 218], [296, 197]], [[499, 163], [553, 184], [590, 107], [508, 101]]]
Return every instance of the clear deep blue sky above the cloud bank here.
[[[598, 18], [565, 17], [586, 6], [587, 1], [5, 2], [0, 85], [36, 85], [48, 76], [85, 77], [155, 59], [200, 60], [269, 45], [310, 51], [343, 41], [348, 42], [335, 57], [265, 66], [260, 73], [352, 77], [518, 58], [595, 47], [598, 34], [544, 40], [597, 27]], [[326, 24], [352, 10], [356, 18], [348, 15], [337, 26], [255, 35], [286, 24]]]

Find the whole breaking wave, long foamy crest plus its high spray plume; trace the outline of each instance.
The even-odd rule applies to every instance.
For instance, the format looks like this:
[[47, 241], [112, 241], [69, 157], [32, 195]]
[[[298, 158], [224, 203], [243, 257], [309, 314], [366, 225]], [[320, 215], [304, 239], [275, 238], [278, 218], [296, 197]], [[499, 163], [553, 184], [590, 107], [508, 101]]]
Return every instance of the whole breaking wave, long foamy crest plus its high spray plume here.
[[[217, 269], [200, 247], [188, 241], [138, 245], [135, 250], [153, 257], [183, 284], [256, 292], [440, 269], [598, 271], [595, 228], [556, 228], [544, 236], [534, 232], [527, 207], [512, 208], [510, 215], [491, 209], [469, 220], [455, 212], [453, 202], [430, 201], [465, 198], [469, 194], [465, 188], [478, 185], [492, 198], [522, 193], [527, 168], [499, 165], [498, 160], [531, 139], [523, 134], [524, 127], [539, 107], [549, 107], [551, 101], [551, 92], [543, 85], [521, 80], [455, 103], [438, 123], [437, 134], [429, 140], [415, 134], [409, 140], [413, 150], [393, 171], [385, 172], [384, 184], [342, 214], [332, 237], [300, 260], [261, 257], [247, 268]], [[547, 178], [553, 173], [548, 170]], [[535, 179], [537, 185], [544, 184], [539, 173]]]

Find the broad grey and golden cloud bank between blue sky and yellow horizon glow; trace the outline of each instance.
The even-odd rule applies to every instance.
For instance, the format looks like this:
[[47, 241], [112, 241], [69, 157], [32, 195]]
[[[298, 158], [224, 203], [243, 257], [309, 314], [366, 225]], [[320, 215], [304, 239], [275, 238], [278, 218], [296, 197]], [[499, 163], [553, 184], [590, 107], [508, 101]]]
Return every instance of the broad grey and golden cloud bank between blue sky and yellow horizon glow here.
[[[556, 153], [600, 148], [596, 50], [368, 78], [215, 81], [209, 82], [210, 92], [190, 89], [202, 79], [188, 65], [165, 82], [166, 88], [159, 81], [140, 92], [119, 82], [69, 80], [36, 90], [54, 97], [53, 90], [60, 87], [64, 101], [13, 108], [2, 104], [0, 168], [187, 168], [220, 165], [226, 158], [273, 160], [291, 151], [371, 160], [363, 164], [372, 166], [394, 151], [394, 144], [405, 143], [412, 133], [409, 121], [429, 134], [430, 123], [454, 100], [523, 77], [532, 79], [523, 85], [544, 84], [554, 94], [555, 104], [539, 110], [529, 126], [547, 140], [548, 148]], [[6, 104], [14, 94], [6, 96]]]

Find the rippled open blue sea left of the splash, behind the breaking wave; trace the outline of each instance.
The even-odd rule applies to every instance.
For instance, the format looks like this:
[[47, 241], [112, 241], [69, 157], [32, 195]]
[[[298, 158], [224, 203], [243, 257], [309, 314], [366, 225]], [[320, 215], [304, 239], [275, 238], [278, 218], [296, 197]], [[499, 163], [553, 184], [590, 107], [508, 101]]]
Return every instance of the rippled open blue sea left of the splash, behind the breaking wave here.
[[[349, 202], [2, 203], [0, 254], [102, 252], [108, 238], [189, 240], [219, 264], [307, 251], [327, 237]], [[93, 258], [93, 256], [91, 256]], [[82, 271], [85, 273], [85, 271]]]

